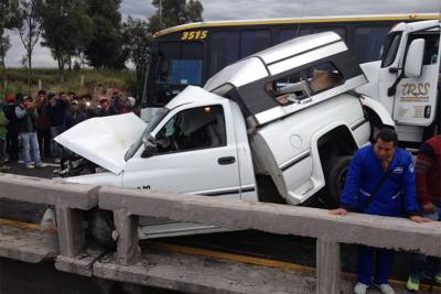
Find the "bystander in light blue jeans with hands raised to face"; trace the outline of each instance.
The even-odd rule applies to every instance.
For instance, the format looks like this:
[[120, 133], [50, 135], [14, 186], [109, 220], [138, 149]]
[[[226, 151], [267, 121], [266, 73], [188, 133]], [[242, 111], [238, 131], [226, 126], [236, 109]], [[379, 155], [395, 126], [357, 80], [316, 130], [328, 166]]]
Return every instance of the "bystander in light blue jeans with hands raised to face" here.
[[[35, 106], [30, 96], [24, 96], [23, 101], [15, 107], [15, 116], [19, 121], [20, 140], [23, 148], [23, 162], [26, 168], [44, 167], [41, 162], [39, 140], [36, 138], [35, 122], [39, 118]], [[31, 162], [31, 157], [34, 164]]]

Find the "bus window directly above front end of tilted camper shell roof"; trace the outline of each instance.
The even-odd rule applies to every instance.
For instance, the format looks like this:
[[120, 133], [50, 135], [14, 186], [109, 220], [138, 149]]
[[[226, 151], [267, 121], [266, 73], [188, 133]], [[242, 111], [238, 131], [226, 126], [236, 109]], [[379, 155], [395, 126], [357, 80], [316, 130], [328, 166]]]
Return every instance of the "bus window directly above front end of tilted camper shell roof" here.
[[246, 57], [269, 46], [271, 46], [269, 30], [243, 31], [240, 34], [240, 57]]

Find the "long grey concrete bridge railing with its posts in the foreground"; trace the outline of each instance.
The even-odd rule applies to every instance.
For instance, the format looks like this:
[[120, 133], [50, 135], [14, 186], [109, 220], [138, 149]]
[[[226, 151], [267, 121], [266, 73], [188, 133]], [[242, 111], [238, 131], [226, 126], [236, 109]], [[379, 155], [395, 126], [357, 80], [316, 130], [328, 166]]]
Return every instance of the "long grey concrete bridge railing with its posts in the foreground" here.
[[80, 227], [83, 211], [95, 206], [112, 210], [118, 232], [117, 258], [122, 265], [136, 263], [141, 253], [138, 216], [316, 238], [318, 293], [340, 293], [340, 243], [418, 250], [441, 257], [439, 222], [421, 225], [404, 218], [361, 214], [337, 217], [331, 216], [325, 209], [178, 193], [92, 187], [17, 175], [0, 176], [0, 198], [55, 205], [60, 252], [71, 258], [84, 246]]

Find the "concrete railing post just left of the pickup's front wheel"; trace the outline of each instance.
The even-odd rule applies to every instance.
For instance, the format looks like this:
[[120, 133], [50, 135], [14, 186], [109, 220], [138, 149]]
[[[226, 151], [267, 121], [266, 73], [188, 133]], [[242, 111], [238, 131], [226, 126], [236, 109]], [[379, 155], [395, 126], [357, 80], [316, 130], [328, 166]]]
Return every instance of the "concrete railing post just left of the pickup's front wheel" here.
[[74, 258], [83, 249], [85, 231], [84, 211], [66, 207], [56, 207], [56, 227], [58, 229], [60, 254]]

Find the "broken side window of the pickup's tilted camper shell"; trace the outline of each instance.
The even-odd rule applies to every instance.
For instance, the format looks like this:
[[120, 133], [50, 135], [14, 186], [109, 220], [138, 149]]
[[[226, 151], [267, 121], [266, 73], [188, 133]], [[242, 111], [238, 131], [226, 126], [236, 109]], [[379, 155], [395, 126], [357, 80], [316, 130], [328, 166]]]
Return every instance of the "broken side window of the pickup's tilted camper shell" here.
[[280, 105], [290, 105], [329, 90], [342, 81], [342, 73], [331, 62], [324, 62], [271, 80], [265, 85], [265, 90]]

